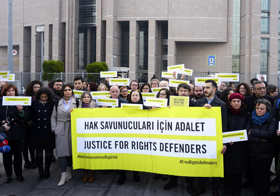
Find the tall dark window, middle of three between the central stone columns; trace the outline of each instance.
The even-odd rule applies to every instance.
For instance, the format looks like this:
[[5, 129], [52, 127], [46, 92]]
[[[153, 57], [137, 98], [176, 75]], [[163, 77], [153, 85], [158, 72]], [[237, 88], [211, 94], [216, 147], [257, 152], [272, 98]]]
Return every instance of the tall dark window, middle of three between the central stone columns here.
[[148, 70], [148, 21], [139, 21], [139, 70]]

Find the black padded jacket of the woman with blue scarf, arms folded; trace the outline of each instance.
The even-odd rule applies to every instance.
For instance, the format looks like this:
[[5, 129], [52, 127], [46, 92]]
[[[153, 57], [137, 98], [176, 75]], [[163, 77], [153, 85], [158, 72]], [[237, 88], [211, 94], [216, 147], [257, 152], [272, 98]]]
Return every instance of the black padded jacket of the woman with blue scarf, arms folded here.
[[[278, 122], [270, 114], [269, 118], [262, 124], [255, 124], [250, 117], [246, 130], [248, 134], [248, 154], [258, 159], [270, 159], [274, 157], [275, 147], [274, 139], [276, 137], [276, 130], [278, 129]], [[268, 140], [268, 141], [262, 141]]]

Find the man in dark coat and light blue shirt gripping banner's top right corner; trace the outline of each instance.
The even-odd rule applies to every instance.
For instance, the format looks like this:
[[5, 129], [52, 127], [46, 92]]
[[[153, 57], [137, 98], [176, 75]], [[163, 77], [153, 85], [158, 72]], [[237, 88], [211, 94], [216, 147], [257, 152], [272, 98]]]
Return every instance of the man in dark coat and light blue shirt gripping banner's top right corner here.
[[[207, 107], [208, 109], [212, 107], [221, 107], [221, 116], [222, 116], [222, 131], [227, 132], [227, 107], [225, 102], [221, 101], [217, 96], [215, 96], [215, 91], [217, 89], [217, 83], [213, 80], [206, 80], [204, 84], [204, 95], [205, 97], [195, 101], [196, 107]], [[223, 144], [222, 154], [225, 153], [227, 147]], [[219, 192], [219, 177], [212, 177], [212, 190], [213, 195], [218, 196]], [[199, 177], [198, 188], [192, 193], [193, 196], [200, 195], [205, 193], [205, 177]]]

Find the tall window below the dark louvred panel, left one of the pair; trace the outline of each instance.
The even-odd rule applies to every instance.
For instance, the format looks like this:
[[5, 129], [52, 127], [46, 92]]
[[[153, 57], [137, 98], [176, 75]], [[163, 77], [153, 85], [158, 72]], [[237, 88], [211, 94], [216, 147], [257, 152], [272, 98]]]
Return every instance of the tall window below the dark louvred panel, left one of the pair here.
[[78, 69], [85, 70], [87, 66], [87, 40], [88, 30], [87, 28], [79, 28], [79, 39], [78, 39]]

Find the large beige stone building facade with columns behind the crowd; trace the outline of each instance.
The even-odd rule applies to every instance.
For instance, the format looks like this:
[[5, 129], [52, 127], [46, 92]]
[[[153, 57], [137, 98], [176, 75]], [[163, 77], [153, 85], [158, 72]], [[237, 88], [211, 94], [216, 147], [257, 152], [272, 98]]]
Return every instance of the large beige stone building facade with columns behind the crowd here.
[[[160, 76], [185, 64], [208, 72], [275, 74], [280, 70], [279, 0], [13, 0], [14, 71], [41, 71], [62, 60], [65, 72], [94, 61], [129, 67], [129, 78]], [[8, 0], [0, 1], [0, 69], [7, 69]]]

